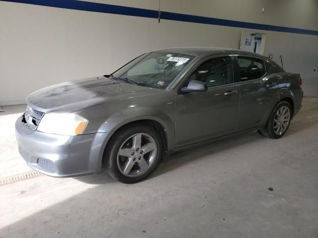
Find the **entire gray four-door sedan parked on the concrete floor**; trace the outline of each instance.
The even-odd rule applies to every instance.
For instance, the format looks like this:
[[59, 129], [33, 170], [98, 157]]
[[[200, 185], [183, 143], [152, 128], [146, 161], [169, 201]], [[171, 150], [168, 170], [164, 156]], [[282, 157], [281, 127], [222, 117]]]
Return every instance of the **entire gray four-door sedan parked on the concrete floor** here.
[[163, 156], [258, 130], [283, 136], [302, 106], [302, 79], [239, 50], [147, 53], [112, 74], [29, 95], [15, 124], [19, 152], [43, 174], [145, 179]]

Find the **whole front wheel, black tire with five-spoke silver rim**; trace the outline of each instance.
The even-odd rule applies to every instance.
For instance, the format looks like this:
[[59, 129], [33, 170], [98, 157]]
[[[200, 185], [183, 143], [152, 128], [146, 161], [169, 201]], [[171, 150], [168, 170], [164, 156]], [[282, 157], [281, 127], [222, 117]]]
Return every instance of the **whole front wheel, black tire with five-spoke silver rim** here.
[[134, 183], [149, 176], [162, 157], [159, 133], [151, 126], [135, 124], [117, 131], [104, 154], [109, 174], [123, 183]]

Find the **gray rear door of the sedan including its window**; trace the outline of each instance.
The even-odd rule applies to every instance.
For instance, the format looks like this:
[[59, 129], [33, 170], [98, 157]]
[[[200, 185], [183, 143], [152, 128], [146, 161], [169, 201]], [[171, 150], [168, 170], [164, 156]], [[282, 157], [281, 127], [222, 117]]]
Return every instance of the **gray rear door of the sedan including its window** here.
[[241, 93], [236, 130], [241, 131], [266, 123], [266, 114], [278, 98], [278, 79], [268, 60], [250, 55], [235, 59], [234, 80]]

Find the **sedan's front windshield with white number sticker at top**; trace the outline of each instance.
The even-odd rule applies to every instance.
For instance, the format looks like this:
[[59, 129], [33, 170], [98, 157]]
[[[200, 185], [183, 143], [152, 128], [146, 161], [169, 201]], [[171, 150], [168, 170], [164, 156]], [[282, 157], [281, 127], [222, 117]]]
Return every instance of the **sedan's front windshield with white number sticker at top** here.
[[113, 73], [115, 79], [156, 88], [166, 88], [178, 73], [196, 56], [152, 52], [132, 60]]

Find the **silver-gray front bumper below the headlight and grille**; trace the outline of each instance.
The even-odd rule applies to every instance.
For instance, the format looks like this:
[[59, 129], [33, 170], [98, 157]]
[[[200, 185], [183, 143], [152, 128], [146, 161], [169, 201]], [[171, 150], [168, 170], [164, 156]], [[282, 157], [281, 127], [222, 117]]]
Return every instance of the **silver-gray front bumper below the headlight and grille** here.
[[19, 153], [26, 164], [53, 177], [72, 177], [100, 171], [107, 133], [66, 136], [32, 130], [15, 122]]

